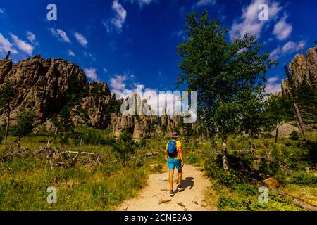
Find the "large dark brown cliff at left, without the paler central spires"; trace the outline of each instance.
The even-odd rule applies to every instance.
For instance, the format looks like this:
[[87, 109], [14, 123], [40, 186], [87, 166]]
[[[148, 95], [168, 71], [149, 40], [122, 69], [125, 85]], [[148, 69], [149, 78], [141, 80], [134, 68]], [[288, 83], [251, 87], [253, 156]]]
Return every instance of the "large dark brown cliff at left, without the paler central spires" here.
[[[35, 124], [42, 124], [50, 115], [58, 114], [66, 104], [72, 107], [70, 111], [74, 123], [91, 124], [99, 128], [110, 123], [107, 106], [111, 91], [106, 83], [87, 82], [84, 72], [74, 63], [60, 58], [44, 60], [41, 56], [17, 64], [13, 64], [10, 59], [0, 60], [0, 84], [6, 79], [11, 80], [15, 89], [15, 98], [11, 101], [12, 124], [23, 108], [34, 110]], [[77, 79], [77, 82], [73, 84], [72, 79]], [[74, 88], [80, 90], [77, 92], [82, 91], [77, 93], [81, 100], [67, 102], [66, 96]], [[5, 119], [4, 109], [1, 109], [0, 123]]]

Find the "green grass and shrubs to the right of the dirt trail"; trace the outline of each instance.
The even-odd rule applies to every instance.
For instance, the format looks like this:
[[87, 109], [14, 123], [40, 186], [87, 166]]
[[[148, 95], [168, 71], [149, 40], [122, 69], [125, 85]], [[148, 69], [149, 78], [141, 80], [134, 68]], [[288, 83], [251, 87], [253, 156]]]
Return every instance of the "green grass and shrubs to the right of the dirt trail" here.
[[[314, 136], [314, 134], [309, 134]], [[280, 189], [298, 198], [316, 204], [316, 170], [308, 174], [305, 167], [312, 167], [310, 148], [302, 140], [279, 140], [266, 136], [250, 141], [248, 136], [230, 136], [228, 160], [230, 171], [225, 172], [218, 155], [220, 140], [199, 142], [196, 149], [185, 146], [185, 160], [204, 167], [213, 184], [213, 192], [206, 198], [215, 198], [210, 207], [217, 210], [303, 210], [292, 198], [268, 193], [268, 203], [259, 203], [259, 181], [270, 175], [280, 181]], [[189, 147], [189, 148], [187, 148]], [[252, 147], [252, 154], [251, 154]], [[263, 159], [268, 157], [269, 160]], [[240, 163], [253, 174], [241, 171]], [[282, 169], [280, 165], [284, 166]], [[297, 186], [295, 186], [297, 185]], [[294, 188], [296, 187], [296, 188]], [[216, 197], [215, 197], [216, 195]]]

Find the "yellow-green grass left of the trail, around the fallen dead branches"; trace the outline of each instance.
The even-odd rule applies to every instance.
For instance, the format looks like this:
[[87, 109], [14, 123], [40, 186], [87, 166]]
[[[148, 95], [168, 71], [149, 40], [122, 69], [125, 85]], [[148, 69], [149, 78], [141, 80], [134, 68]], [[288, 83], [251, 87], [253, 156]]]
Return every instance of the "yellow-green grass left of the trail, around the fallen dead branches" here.
[[[87, 129], [81, 129], [85, 132]], [[106, 136], [103, 131], [89, 130]], [[51, 137], [50, 137], [51, 138]], [[27, 136], [21, 139], [21, 146], [34, 153], [40, 146], [46, 146], [49, 136]], [[8, 143], [14, 138], [9, 137]], [[133, 160], [123, 167], [117, 153], [111, 146], [84, 145], [72, 143], [62, 145], [51, 138], [51, 146], [60, 150], [74, 150], [101, 153], [103, 164], [84, 168], [79, 162], [75, 168], [50, 168], [49, 161], [37, 157], [13, 158], [0, 162], [0, 210], [115, 210], [123, 200], [137, 194], [147, 184], [147, 175], [161, 169], [163, 153], [144, 158], [144, 153], [159, 151], [154, 143], [150, 148], [137, 149]], [[0, 146], [0, 155], [7, 146]], [[159, 163], [157, 167], [149, 167]], [[151, 169], [149, 169], [151, 168]], [[46, 201], [49, 186], [57, 188], [57, 204]]]

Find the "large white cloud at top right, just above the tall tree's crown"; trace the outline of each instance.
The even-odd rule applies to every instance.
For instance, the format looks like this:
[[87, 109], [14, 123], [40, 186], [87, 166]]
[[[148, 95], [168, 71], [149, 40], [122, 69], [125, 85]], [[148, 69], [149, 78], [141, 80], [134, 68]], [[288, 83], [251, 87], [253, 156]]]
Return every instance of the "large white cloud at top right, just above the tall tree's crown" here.
[[243, 37], [245, 32], [260, 37], [261, 30], [263, 29], [266, 21], [259, 20], [259, 5], [266, 3], [268, 4], [268, 19], [270, 20], [282, 9], [278, 2], [270, 4], [268, 0], [252, 0], [249, 6], [242, 9], [242, 16], [237, 22], [232, 24], [231, 30], [229, 31], [230, 39]]

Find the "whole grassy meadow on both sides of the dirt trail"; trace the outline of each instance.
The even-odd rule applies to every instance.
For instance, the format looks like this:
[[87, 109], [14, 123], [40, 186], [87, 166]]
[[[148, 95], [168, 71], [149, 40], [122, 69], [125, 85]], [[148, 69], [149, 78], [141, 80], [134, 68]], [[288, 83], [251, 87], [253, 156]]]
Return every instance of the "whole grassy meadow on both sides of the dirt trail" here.
[[[76, 128], [76, 134], [88, 135], [78, 144], [76, 136], [37, 134], [25, 136], [20, 146], [23, 155], [0, 161], [0, 210], [116, 210], [127, 198], [137, 195], [147, 184], [149, 174], [163, 172], [163, 147], [166, 139], [144, 139], [126, 160], [113, 150], [112, 131]], [[101, 164], [54, 167], [37, 154], [47, 145], [60, 151], [99, 153]], [[67, 140], [66, 140], [67, 139]], [[230, 136], [228, 140], [229, 172], [221, 166], [220, 140], [185, 139], [182, 146], [185, 163], [196, 165], [211, 179], [206, 191], [206, 204], [214, 210], [303, 210], [287, 198], [269, 193], [268, 203], [258, 203], [259, 181], [270, 176], [280, 182], [279, 190], [317, 205], [316, 131], [309, 141], [279, 140], [270, 135], [250, 140], [249, 136]], [[0, 146], [0, 158], [17, 148], [16, 138], [9, 137]], [[146, 157], [145, 153], [159, 152]], [[309, 167], [309, 172], [306, 172]], [[49, 186], [57, 188], [57, 203], [46, 201]]]

